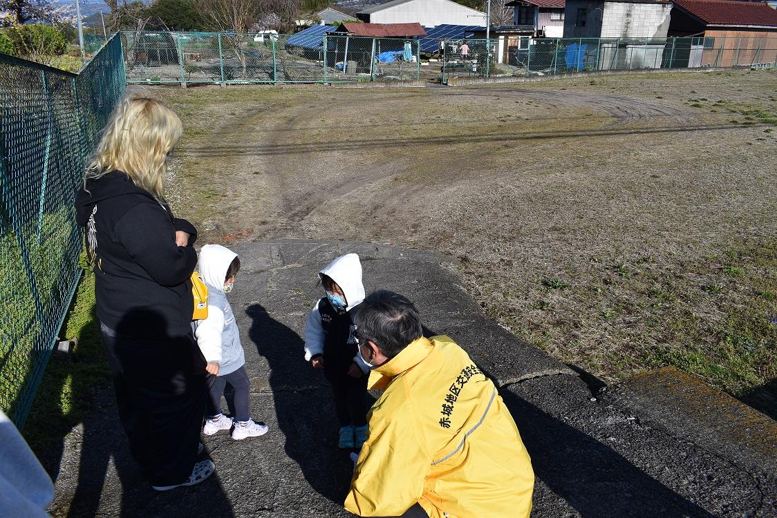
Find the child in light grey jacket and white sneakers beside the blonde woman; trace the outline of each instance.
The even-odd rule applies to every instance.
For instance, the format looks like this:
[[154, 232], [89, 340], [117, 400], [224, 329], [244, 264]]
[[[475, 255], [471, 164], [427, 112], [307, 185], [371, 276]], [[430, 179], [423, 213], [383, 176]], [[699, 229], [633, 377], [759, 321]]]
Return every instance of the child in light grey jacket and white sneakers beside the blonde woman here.
[[[250, 388], [246, 356], [240, 332], [227, 296], [240, 270], [235, 252], [221, 245], [205, 245], [200, 250], [200, 276], [207, 286], [207, 318], [196, 322], [197, 344], [205, 356], [210, 398], [203, 433], [213, 435], [232, 426], [232, 439], [261, 436], [267, 425], [254, 422], [250, 413]], [[221, 395], [226, 384], [235, 389], [235, 415], [229, 419], [221, 412]]]

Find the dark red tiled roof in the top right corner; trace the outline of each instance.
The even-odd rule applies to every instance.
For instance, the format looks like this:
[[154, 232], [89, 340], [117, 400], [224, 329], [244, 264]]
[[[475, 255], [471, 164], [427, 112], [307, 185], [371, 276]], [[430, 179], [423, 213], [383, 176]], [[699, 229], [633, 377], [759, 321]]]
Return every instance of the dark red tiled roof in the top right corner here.
[[777, 9], [772, 9], [765, 2], [674, 0], [674, 8], [695, 16], [707, 25], [777, 27]]

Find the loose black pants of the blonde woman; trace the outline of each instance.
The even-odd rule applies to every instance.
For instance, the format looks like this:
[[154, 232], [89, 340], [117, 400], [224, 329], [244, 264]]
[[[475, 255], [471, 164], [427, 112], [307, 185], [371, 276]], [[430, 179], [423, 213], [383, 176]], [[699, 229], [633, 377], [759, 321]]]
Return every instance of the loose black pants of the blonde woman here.
[[207, 402], [205, 359], [193, 335], [139, 339], [100, 325], [132, 457], [152, 485], [186, 481]]

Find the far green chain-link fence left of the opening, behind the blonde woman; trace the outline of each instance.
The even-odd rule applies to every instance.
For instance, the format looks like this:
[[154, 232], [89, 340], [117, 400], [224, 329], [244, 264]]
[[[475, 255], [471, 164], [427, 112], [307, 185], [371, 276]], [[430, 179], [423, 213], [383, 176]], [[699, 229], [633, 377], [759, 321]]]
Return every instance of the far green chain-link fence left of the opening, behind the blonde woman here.
[[130, 83], [361, 82], [420, 78], [420, 40], [322, 34], [121, 33]]

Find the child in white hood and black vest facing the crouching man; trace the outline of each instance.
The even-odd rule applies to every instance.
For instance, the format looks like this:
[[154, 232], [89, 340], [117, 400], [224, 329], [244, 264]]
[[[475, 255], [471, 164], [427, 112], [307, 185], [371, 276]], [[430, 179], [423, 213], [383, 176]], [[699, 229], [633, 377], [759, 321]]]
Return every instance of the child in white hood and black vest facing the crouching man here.
[[364, 299], [361, 262], [346, 254], [319, 272], [325, 296], [315, 303], [305, 322], [305, 360], [323, 369], [332, 391], [338, 446], [361, 448], [367, 440], [367, 379], [369, 367], [358, 354], [351, 315]]

